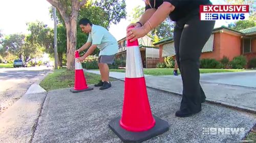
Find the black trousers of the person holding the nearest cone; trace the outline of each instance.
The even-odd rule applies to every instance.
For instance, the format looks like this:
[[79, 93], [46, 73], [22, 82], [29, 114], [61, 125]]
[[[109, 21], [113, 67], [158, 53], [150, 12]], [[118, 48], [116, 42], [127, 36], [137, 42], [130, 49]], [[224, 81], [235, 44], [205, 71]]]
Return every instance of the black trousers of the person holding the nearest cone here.
[[215, 21], [200, 21], [198, 11], [176, 21], [174, 44], [183, 83], [181, 110], [196, 112], [205, 101], [206, 97], [199, 82], [200, 55], [214, 25]]

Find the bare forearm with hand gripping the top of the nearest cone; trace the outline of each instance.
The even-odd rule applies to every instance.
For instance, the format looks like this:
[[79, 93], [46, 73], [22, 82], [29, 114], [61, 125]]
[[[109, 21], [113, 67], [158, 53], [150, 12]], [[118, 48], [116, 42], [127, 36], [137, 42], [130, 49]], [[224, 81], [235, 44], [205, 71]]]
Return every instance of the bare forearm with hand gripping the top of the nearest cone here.
[[162, 23], [170, 12], [174, 11], [175, 7], [169, 2], [163, 2], [162, 5], [158, 7], [155, 13], [148, 19], [142, 27], [129, 28], [127, 30], [127, 39], [130, 39], [131, 42], [136, 39], [145, 36], [153, 28], [157, 27]]

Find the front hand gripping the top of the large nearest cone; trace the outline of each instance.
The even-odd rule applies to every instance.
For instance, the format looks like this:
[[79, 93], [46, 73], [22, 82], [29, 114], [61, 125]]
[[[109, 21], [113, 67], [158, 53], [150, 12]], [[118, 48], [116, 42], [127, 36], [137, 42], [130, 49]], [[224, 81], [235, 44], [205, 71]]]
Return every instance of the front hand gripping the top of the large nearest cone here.
[[135, 41], [138, 38], [144, 37], [148, 32], [142, 27], [129, 28], [126, 33], [126, 39], [130, 42]]

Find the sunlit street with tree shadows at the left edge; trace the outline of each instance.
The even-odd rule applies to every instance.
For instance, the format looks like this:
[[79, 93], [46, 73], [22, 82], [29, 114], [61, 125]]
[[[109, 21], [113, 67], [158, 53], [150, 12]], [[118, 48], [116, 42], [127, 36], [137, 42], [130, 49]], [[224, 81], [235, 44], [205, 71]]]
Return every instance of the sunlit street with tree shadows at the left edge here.
[[46, 66], [0, 69], [0, 115], [50, 70]]

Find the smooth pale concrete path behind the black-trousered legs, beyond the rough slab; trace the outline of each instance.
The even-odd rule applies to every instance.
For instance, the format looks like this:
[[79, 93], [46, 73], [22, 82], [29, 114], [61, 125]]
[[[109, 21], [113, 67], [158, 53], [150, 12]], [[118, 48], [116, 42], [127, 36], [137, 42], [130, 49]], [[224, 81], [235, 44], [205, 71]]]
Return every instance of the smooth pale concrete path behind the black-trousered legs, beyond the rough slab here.
[[[95, 70], [86, 71], [99, 74], [99, 71]], [[124, 80], [125, 73], [110, 72], [110, 76]], [[181, 75], [145, 75], [145, 79], [147, 87], [182, 95]], [[252, 113], [256, 113], [255, 81], [256, 71], [201, 74], [200, 79], [207, 101]]]

